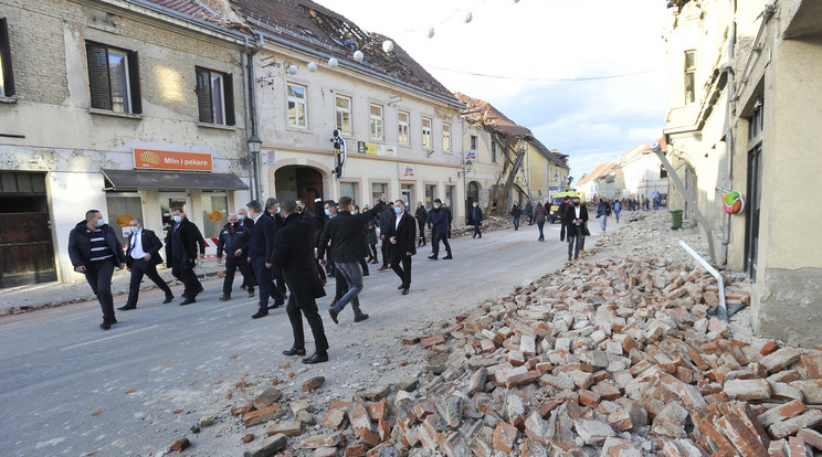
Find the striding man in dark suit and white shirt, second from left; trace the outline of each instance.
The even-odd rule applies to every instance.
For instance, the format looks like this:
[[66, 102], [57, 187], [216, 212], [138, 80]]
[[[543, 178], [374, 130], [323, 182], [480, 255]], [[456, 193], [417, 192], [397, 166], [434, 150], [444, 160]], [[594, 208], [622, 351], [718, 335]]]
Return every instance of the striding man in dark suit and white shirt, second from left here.
[[137, 308], [137, 297], [140, 294], [140, 281], [144, 275], [166, 293], [164, 304], [175, 299], [171, 288], [157, 274], [157, 265], [162, 263], [161, 247], [160, 238], [152, 231], [143, 228], [143, 222], [139, 219], [131, 220], [131, 234], [128, 236], [128, 251], [126, 252], [126, 267], [131, 272], [131, 283], [128, 285], [126, 305], [117, 309], [127, 311]]

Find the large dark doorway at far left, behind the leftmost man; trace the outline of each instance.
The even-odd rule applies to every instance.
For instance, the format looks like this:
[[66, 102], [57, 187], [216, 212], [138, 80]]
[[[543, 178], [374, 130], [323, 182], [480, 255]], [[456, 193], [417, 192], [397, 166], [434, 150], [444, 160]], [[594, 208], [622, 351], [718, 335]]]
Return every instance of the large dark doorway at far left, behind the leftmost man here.
[[54, 280], [45, 174], [0, 172], [0, 288]]

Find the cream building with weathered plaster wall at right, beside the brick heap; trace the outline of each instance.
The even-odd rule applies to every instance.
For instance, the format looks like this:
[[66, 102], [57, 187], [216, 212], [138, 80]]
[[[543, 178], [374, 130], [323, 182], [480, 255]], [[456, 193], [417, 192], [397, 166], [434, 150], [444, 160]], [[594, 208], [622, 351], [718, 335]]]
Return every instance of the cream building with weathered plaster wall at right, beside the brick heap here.
[[[758, 334], [819, 344], [822, 3], [668, 4], [668, 158], [716, 234], [718, 261], [753, 281]], [[730, 190], [745, 199], [740, 214], [723, 211]], [[677, 193], [671, 205], [693, 211]]]

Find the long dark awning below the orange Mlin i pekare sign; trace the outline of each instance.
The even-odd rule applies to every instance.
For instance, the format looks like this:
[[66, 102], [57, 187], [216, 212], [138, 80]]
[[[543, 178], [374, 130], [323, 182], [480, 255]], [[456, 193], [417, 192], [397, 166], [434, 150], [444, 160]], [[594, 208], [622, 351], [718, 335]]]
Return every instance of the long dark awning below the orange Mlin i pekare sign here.
[[245, 184], [233, 173], [192, 173], [183, 171], [101, 170], [106, 178], [106, 190], [136, 189], [213, 189], [245, 190]]

